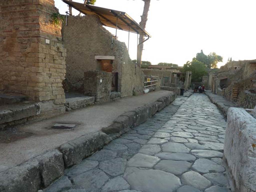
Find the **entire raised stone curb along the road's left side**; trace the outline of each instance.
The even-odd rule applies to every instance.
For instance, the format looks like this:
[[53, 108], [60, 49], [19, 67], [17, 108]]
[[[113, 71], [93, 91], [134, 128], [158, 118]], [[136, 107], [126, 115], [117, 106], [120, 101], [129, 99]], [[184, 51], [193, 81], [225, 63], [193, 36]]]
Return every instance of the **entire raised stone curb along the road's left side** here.
[[101, 131], [82, 135], [62, 144], [58, 149], [38, 155], [18, 166], [0, 172], [0, 191], [37, 192], [46, 188], [64, 175], [64, 169], [80, 163], [86, 157], [103, 148], [114, 138], [120, 137], [151, 118], [158, 111], [172, 103], [175, 93], [161, 97], [155, 102], [125, 112]]

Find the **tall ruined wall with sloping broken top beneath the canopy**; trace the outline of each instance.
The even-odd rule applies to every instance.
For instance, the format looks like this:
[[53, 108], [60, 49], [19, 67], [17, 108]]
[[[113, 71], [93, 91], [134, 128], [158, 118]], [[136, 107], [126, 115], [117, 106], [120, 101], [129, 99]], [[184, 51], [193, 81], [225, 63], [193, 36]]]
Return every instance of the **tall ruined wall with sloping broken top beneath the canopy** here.
[[[62, 26], [62, 40], [67, 48], [67, 82], [73, 89], [83, 90], [85, 71], [100, 71], [96, 55], [115, 56], [113, 71], [118, 72], [118, 91], [121, 97], [142, 93], [143, 77], [141, 70], [132, 63], [125, 43], [114, 39], [111, 50], [112, 34], [102, 27], [97, 16], [68, 17], [68, 26]], [[66, 90], [69, 91], [69, 90]]]

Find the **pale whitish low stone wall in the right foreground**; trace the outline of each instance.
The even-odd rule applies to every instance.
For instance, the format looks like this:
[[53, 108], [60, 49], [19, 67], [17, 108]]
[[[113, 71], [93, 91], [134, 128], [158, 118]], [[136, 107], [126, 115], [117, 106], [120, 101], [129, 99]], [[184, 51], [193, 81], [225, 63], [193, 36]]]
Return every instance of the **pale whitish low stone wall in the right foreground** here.
[[256, 119], [244, 109], [228, 110], [223, 162], [235, 192], [256, 191]]

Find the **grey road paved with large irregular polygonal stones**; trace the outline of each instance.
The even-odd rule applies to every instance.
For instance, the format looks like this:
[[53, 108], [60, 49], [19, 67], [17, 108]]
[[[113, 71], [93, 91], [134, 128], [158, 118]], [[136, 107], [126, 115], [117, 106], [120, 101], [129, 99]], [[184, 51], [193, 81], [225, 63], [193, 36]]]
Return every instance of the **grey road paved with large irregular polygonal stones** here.
[[179, 97], [44, 192], [228, 192], [225, 126], [206, 95]]

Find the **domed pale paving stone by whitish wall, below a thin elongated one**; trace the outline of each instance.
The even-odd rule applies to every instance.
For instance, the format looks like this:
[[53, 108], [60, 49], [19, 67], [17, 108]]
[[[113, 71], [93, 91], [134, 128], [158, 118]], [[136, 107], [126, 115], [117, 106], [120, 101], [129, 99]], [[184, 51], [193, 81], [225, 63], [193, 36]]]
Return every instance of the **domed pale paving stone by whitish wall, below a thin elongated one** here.
[[195, 161], [192, 169], [198, 173], [223, 172], [225, 168], [209, 159], [200, 158]]

